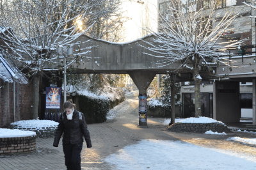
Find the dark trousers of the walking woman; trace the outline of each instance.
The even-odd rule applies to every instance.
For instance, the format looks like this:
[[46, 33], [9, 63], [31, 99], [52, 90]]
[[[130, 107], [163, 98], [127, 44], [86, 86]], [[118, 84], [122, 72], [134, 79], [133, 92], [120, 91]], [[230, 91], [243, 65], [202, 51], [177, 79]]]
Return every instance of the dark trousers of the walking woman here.
[[67, 170], [81, 170], [81, 151], [83, 143], [64, 144], [65, 165]]

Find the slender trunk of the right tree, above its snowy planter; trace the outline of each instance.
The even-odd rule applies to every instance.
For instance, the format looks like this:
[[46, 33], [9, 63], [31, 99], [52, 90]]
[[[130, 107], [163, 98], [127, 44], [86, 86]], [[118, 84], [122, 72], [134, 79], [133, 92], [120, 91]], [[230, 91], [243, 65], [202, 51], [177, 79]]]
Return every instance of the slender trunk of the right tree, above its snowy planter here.
[[195, 117], [202, 116], [201, 113], [201, 100], [200, 100], [200, 85], [202, 79], [199, 75], [199, 57], [195, 55], [195, 70], [194, 70], [194, 80], [195, 80]]

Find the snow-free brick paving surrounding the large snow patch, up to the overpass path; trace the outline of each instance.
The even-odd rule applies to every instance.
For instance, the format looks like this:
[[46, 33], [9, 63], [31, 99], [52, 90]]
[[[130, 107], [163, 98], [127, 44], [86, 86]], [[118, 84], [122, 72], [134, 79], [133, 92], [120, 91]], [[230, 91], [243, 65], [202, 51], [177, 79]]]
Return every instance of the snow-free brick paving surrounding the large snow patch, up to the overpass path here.
[[[148, 128], [138, 127], [138, 94], [115, 107], [117, 117], [106, 123], [88, 125], [93, 148], [84, 143], [82, 169], [115, 169], [104, 162], [104, 158], [129, 144], [142, 139], [179, 140], [207, 148], [220, 148], [225, 151], [249, 154], [256, 160], [255, 146], [226, 141], [228, 137], [239, 136], [255, 138], [255, 134], [236, 132], [228, 135], [205, 135], [173, 133], [164, 131], [161, 118], [149, 118]], [[36, 151], [17, 155], [0, 155], [0, 169], [65, 169], [62, 145], [52, 147], [53, 138], [36, 139]], [[145, 155], [141, 155], [143, 157]]]

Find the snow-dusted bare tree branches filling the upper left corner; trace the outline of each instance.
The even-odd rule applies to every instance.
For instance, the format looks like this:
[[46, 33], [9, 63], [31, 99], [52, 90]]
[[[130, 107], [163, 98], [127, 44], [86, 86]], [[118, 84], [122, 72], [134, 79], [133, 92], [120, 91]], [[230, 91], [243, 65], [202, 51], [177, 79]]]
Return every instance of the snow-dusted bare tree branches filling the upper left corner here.
[[[81, 42], [78, 42], [77, 38], [92, 31], [98, 17], [100, 19], [111, 16], [118, 2], [119, 0], [2, 2], [1, 47], [9, 52], [8, 56], [12, 56], [18, 65], [28, 68], [30, 72], [51, 70], [49, 66], [56, 70], [56, 64], [63, 60], [63, 56], [57, 54], [56, 48], [78, 47]], [[86, 55], [91, 48], [75, 49], [73, 56], [66, 55], [67, 62], [88, 59]]]

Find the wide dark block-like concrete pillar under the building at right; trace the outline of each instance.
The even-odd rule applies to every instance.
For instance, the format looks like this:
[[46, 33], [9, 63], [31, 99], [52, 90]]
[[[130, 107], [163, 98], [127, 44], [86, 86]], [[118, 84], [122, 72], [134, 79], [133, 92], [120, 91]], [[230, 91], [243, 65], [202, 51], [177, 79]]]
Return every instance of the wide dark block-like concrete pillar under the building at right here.
[[239, 82], [214, 83], [213, 118], [224, 123], [240, 121]]

